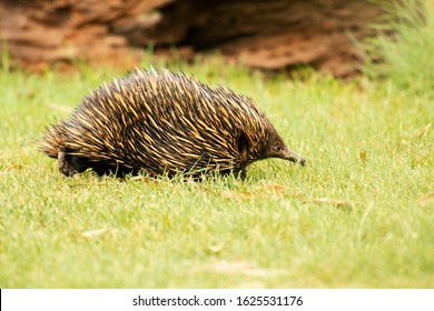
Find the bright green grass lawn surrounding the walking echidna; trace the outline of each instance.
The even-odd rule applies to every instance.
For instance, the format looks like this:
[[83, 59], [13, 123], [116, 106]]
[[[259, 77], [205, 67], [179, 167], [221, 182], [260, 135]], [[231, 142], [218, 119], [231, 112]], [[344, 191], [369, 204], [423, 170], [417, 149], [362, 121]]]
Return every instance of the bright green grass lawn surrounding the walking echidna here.
[[218, 58], [171, 68], [249, 94], [307, 167], [267, 160], [245, 181], [201, 183], [65, 178], [33, 140], [125, 72], [3, 69], [0, 288], [434, 287], [434, 101], [423, 84], [385, 69], [265, 79]]

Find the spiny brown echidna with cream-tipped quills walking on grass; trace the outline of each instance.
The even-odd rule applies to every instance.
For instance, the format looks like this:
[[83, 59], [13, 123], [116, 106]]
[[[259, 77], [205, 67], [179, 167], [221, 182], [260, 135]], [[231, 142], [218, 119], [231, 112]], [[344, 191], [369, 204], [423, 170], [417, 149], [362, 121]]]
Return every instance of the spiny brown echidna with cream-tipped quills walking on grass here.
[[38, 142], [66, 175], [235, 173], [280, 158], [302, 165], [253, 100], [168, 70], [136, 71], [86, 97]]

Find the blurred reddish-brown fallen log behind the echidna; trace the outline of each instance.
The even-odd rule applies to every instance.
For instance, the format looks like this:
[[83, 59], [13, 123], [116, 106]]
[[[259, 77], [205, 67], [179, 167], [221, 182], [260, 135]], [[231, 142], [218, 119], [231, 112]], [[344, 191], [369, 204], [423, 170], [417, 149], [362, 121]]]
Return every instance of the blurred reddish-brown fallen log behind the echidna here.
[[384, 7], [366, 0], [2, 0], [0, 38], [12, 66], [32, 70], [218, 52], [250, 68], [351, 77], [363, 61], [357, 43], [377, 33], [378, 17]]

